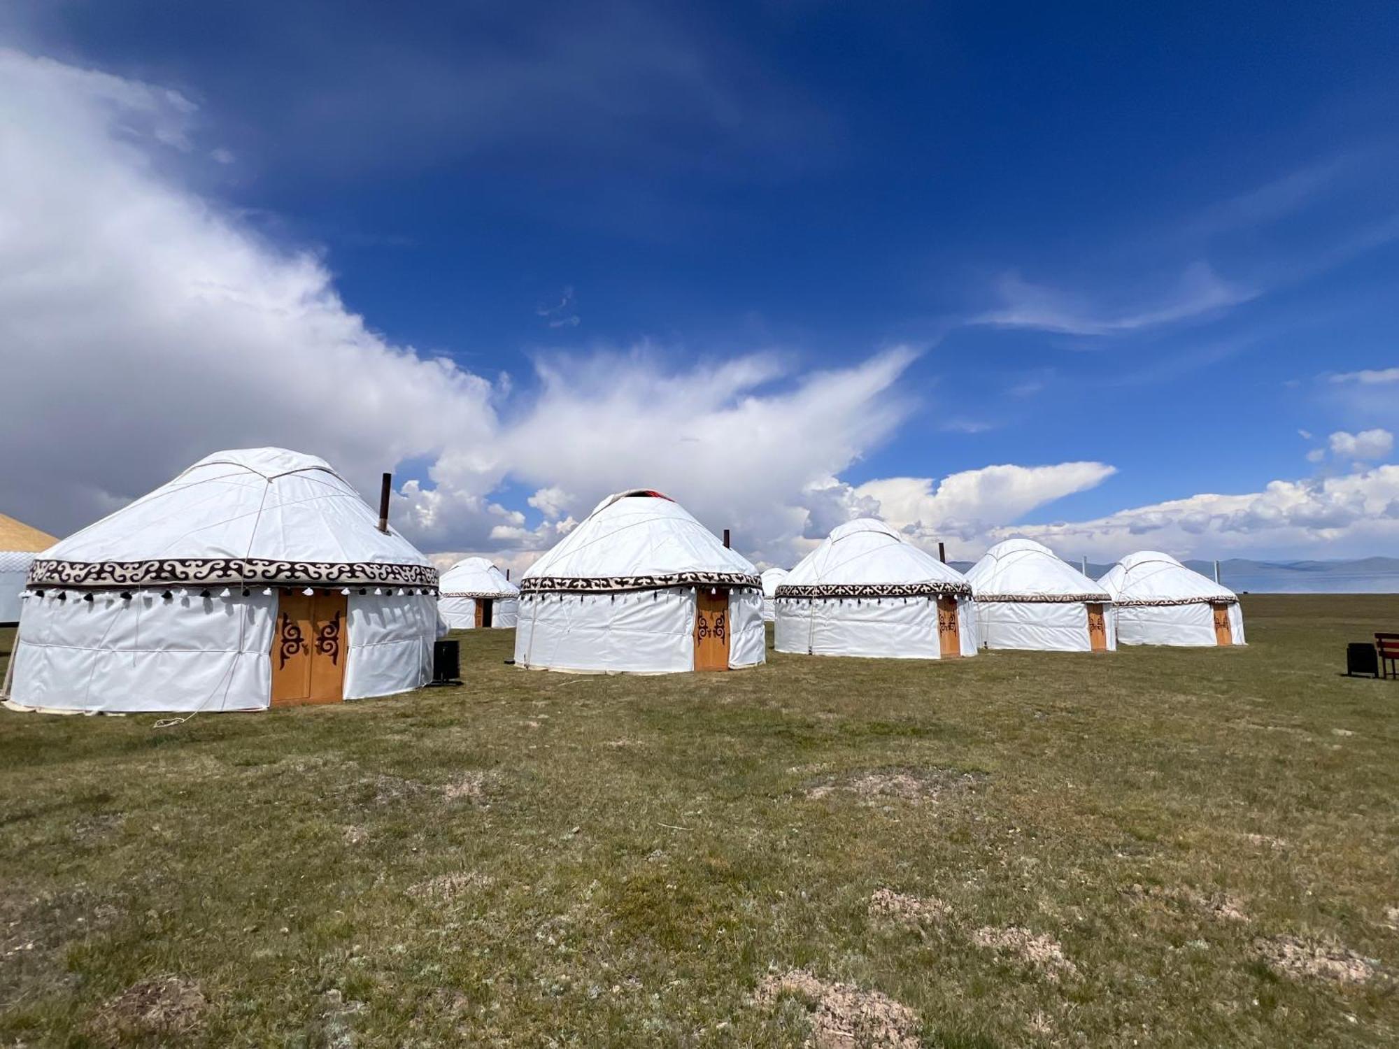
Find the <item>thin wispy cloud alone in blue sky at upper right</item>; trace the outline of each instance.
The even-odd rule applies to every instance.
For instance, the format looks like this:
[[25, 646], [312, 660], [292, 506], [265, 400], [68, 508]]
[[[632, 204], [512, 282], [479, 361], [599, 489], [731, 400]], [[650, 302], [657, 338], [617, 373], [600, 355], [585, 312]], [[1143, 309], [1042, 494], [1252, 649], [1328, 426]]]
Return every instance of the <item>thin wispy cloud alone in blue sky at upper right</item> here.
[[1112, 336], [1189, 320], [1235, 306], [1256, 292], [1219, 277], [1209, 263], [1186, 267], [1175, 294], [1164, 302], [1108, 308], [1070, 292], [1031, 284], [1010, 273], [997, 292], [1002, 306], [974, 320], [995, 327], [1027, 327], [1072, 336]]

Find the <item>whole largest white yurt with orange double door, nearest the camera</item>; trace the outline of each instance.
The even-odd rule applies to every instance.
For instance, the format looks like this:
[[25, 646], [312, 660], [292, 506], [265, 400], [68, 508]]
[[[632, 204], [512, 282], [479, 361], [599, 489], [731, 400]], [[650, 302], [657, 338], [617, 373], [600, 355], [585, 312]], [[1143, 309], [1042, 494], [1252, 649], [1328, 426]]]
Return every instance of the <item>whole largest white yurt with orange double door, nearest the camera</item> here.
[[436, 571], [330, 466], [217, 452], [29, 569], [10, 704], [253, 711], [418, 688]]

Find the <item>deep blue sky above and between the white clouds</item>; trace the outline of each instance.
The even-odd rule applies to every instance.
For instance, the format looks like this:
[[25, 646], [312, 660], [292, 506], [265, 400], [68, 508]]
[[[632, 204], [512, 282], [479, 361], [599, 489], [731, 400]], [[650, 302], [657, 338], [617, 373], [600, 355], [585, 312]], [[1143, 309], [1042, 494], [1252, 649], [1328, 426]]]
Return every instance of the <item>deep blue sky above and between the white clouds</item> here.
[[[776, 361], [711, 406], [732, 425], [746, 397], [781, 406], [908, 347], [863, 407], [891, 425], [806, 466], [856, 492], [842, 506], [872, 509], [858, 490], [881, 478], [1114, 467], [974, 523], [901, 522], [967, 552], [993, 529], [1279, 480], [1316, 494], [1391, 457], [1392, 439], [1357, 462], [1330, 435], [1399, 422], [1399, 387], [1332, 379], [1399, 364], [1393, 4], [20, 3], [0, 39], [178, 92], [193, 145], [147, 148], [150, 178], [274, 255], [309, 252], [390, 352], [490, 383], [491, 442], [537, 420], [541, 361], [592, 376], [564, 382], [599, 408], [637, 354], [662, 383]], [[431, 487], [456, 439], [410, 442], [400, 478]], [[529, 459], [466, 488], [533, 538], [424, 536], [537, 547], [551, 518], [529, 498], [561, 481]], [[104, 498], [147, 480], [164, 477]], [[1213, 547], [1167, 534], [1186, 554], [1399, 552], [1374, 548], [1393, 480], [1371, 477], [1358, 531], [1311, 508], [1316, 527], [1248, 533], [1234, 506], [1209, 511], [1235, 515]], [[599, 494], [576, 487], [558, 518]], [[76, 526], [83, 505], [49, 513]], [[754, 523], [772, 559], [820, 516], [785, 505], [810, 520]], [[1118, 533], [1060, 552], [1122, 552]]]

